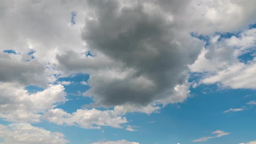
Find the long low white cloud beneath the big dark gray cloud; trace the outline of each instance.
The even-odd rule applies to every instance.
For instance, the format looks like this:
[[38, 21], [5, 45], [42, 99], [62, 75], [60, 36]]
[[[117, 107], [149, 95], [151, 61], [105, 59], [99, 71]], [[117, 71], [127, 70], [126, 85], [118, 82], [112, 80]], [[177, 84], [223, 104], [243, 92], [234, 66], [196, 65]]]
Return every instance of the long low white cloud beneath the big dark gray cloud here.
[[[72, 114], [55, 108], [47, 111], [43, 119], [55, 124], [75, 125], [82, 128], [101, 128], [102, 126], [111, 126], [113, 128], [123, 128], [121, 124], [128, 123], [126, 118], [121, 117], [112, 110], [100, 111], [92, 109], [77, 109]], [[127, 127], [127, 130], [131, 130]]]

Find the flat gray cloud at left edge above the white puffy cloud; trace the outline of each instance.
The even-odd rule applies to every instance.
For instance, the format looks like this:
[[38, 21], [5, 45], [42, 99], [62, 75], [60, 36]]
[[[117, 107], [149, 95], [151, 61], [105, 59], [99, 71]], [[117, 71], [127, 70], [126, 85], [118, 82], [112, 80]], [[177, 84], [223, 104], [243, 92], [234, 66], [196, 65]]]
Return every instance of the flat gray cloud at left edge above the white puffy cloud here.
[[22, 62], [0, 52], [0, 82], [19, 82], [24, 85], [47, 85], [44, 77], [46, 66], [36, 59]]

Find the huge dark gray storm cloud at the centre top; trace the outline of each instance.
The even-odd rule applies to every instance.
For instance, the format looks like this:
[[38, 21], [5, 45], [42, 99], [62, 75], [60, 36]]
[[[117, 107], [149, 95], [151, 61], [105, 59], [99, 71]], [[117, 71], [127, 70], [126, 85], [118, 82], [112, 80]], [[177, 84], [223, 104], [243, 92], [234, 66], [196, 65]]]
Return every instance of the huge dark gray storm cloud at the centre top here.
[[[82, 38], [90, 49], [119, 65], [91, 73], [88, 82], [92, 88], [84, 95], [93, 96], [95, 105], [102, 106], [170, 100], [174, 87], [187, 82], [187, 65], [197, 59], [203, 42], [178, 29], [163, 3], [88, 0], [88, 5], [91, 16]], [[56, 58], [66, 69], [79, 69], [78, 61], [69, 61], [73, 54]], [[81, 61], [78, 56], [73, 58]], [[173, 97], [170, 102], [186, 98]]]

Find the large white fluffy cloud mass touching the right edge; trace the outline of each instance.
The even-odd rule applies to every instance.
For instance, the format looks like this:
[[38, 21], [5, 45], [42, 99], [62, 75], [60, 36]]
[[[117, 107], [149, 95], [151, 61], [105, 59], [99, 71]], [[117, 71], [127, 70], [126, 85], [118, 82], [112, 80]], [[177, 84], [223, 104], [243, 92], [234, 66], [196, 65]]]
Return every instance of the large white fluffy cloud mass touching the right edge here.
[[255, 50], [255, 41], [256, 29], [246, 29], [238, 36], [210, 43], [196, 62], [190, 65], [190, 69], [193, 72], [207, 72], [200, 81], [203, 84], [220, 83], [234, 89], [255, 89], [255, 56], [251, 55], [252, 59], [246, 62], [239, 59], [239, 56]]

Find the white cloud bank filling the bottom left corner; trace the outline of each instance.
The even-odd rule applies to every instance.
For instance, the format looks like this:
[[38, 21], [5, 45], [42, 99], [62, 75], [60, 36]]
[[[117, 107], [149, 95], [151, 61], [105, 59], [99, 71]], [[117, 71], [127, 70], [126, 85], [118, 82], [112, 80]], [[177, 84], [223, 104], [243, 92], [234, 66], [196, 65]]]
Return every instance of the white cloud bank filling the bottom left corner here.
[[66, 144], [65, 135], [47, 131], [28, 123], [0, 124], [1, 144]]

